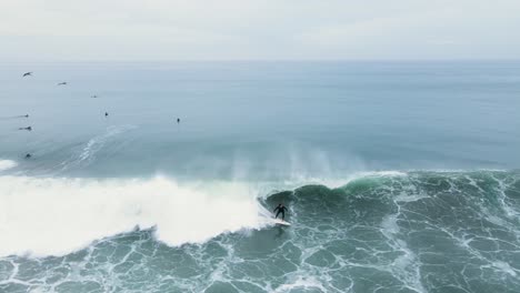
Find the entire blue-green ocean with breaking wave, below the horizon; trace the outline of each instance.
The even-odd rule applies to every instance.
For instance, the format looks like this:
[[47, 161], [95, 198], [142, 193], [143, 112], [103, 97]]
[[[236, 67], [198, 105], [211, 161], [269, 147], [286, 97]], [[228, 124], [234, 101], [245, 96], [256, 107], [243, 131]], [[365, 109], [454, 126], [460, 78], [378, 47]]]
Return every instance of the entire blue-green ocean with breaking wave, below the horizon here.
[[520, 62], [4, 63], [0, 84], [2, 293], [520, 292]]

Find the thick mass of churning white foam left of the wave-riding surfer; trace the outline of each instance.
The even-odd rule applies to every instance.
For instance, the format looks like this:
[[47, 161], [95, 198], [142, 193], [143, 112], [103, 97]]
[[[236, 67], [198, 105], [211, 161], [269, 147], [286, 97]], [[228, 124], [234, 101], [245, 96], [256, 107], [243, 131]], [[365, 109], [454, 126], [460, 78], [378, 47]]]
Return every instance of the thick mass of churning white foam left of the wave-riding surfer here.
[[60, 255], [136, 225], [170, 245], [202, 242], [262, 226], [256, 195], [240, 182], [0, 176], [0, 255]]

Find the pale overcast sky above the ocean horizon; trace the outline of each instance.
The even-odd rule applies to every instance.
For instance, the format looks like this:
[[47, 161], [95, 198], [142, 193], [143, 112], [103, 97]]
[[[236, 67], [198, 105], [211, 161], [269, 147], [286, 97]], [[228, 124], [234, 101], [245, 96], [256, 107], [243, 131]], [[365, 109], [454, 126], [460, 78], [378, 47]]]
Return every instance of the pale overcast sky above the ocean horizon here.
[[520, 59], [520, 0], [0, 0], [0, 61]]

